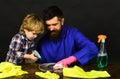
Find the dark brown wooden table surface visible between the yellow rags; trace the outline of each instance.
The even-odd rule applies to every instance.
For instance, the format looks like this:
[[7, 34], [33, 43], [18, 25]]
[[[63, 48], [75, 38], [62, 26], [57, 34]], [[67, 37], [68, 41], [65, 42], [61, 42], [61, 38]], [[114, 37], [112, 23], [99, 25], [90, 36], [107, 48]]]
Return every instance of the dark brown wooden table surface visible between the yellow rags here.
[[[17, 77], [10, 77], [7, 79], [42, 79], [39, 76], [35, 75], [35, 72], [39, 70], [39, 64], [22, 64], [22, 70], [28, 71], [27, 75], [17, 76]], [[96, 64], [88, 64], [86, 66], [82, 66], [85, 71], [90, 70], [97, 70]], [[120, 63], [109, 63], [106, 71], [111, 75], [111, 77], [103, 78], [103, 79], [120, 79]], [[61, 76], [60, 79], [77, 79], [77, 78], [68, 78]], [[100, 78], [99, 78], [100, 79]]]

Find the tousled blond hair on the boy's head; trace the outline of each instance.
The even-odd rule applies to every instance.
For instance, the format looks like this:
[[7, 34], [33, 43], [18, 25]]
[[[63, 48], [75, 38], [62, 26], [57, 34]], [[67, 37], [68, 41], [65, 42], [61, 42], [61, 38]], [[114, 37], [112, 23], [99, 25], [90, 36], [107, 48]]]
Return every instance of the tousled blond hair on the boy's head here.
[[36, 14], [28, 14], [20, 27], [20, 33], [25, 34], [24, 29], [28, 31], [35, 31], [36, 34], [44, 32], [44, 25], [42, 19], [40, 19]]

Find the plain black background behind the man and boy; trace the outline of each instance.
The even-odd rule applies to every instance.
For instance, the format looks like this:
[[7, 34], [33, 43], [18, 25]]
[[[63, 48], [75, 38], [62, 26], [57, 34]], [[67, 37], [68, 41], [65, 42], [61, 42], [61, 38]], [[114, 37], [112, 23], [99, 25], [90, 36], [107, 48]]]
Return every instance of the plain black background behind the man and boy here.
[[120, 61], [119, 0], [0, 0], [0, 62], [5, 60], [11, 38], [26, 14], [41, 16], [49, 5], [58, 5], [64, 12], [65, 24], [77, 27], [98, 47], [97, 35], [106, 34], [109, 61]]

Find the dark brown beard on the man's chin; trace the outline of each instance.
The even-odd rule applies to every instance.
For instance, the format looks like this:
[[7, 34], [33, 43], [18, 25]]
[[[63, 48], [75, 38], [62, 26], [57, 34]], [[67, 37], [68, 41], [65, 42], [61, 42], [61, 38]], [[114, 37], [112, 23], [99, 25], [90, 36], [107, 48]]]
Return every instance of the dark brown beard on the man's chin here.
[[50, 39], [53, 41], [57, 41], [60, 37], [61, 30], [53, 30], [53, 31], [48, 31]]

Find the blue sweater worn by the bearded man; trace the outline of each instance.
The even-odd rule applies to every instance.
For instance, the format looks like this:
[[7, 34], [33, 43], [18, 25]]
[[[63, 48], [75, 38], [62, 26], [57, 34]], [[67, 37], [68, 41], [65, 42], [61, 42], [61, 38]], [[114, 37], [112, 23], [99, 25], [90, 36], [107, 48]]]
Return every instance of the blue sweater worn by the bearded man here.
[[39, 62], [56, 63], [69, 56], [75, 56], [79, 65], [87, 64], [98, 53], [96, 45], [86, 38], [78, 29], [62, 26], [60, 39], [52, 41], [45, 35], [38, 43], [41, 55]]

